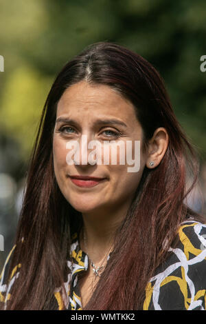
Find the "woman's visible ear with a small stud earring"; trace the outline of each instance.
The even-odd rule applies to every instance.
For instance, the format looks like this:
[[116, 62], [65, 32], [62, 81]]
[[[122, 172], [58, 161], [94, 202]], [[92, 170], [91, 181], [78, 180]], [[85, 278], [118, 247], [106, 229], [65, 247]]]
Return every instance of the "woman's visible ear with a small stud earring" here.
[[[148, 156], [146, 159], [146, 166], [148, 168], [155, 168], [163, 159], [163, 156], [168, 148], [169, 136], [165, 128], [157, 128], [152, 139], [149, 141]], [[150, 162], [153, 162], [153, 164]]]

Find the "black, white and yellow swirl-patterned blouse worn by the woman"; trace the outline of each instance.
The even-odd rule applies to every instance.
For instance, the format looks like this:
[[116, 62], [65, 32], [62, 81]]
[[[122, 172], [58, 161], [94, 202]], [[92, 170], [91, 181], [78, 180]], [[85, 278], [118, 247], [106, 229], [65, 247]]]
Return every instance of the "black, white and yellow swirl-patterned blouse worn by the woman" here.
[[[15, 247], [8, 255], [0, 276], [0, 301], [5, 309], [21, 269], [21, 264], [16, 265], [9, 283], [5, 283]], [[67, 266], [71, 272], [64, 283], [67, 296], [62, 288], [54, 292], [57, 310], [63, 310], [65, 306], [67, 310], [82, 310], [78, 279], [80, 273], [87, 271], [89, 259], [80, 249], [77, 233], [73, 234], [70, 254], [71, 261], [67, 261]], [[182, 223], [179, 244], [174, 249], [170, 247], [170, 256], [157, 268], [146, 287], [143, 310], [206, 310], [206, 224], [198, 221]]]

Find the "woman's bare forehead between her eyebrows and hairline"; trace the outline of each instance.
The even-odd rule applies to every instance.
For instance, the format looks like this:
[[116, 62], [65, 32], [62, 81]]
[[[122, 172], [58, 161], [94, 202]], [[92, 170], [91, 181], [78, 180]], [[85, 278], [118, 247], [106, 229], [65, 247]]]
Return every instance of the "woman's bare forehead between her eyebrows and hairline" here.
[[57, 107], [57, 117], [118, 117], [130, 124], [137, 121], [135, 108], [130, 101], [108, 85], [91, 85], [80, 81], [62, 94]]

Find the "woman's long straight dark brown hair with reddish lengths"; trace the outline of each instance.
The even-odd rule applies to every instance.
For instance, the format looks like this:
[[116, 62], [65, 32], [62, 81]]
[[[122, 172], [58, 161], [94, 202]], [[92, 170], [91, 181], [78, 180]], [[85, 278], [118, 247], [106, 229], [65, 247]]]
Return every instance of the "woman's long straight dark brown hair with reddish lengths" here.
[[[62, 68], [43, 108], [10, 265], [11, 272], [21, 263], [20, 275], [12, 287], [8, 310], [52, 309], [54, 289], [65, 279], [71, 233], [82, 226], [82, 215], [58, 188], [52, 140], [58, 101], [65, 89], [82, 80], [108, 85], [133, 103], [145, 150], [157, 128], [165, 128], [169, 136], [161, 163], [157, 168], [144, 168], [135, 198], [115, 234], [113, 254], [84, 309], [142, 309], [146, 285], [166, 258], [179, 225], [189, 217], [201, 219], [185, 205], [197, 180], [198, 159], [176, 120], [159, 72], [121, 45], [89, 45]], [[187, 176], [194, 179], [189, 190]]]

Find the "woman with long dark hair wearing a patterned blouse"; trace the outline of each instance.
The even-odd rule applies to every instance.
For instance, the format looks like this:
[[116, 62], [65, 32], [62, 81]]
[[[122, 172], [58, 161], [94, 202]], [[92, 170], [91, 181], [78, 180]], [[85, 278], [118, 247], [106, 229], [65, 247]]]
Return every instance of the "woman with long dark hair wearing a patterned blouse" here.
[[194, 185], [196, 156], [155, 68], [120, 45], [86, 48], [43, 109], [2, 308], [205, 309], [206, 225], [184, 203], [187, 174]]

